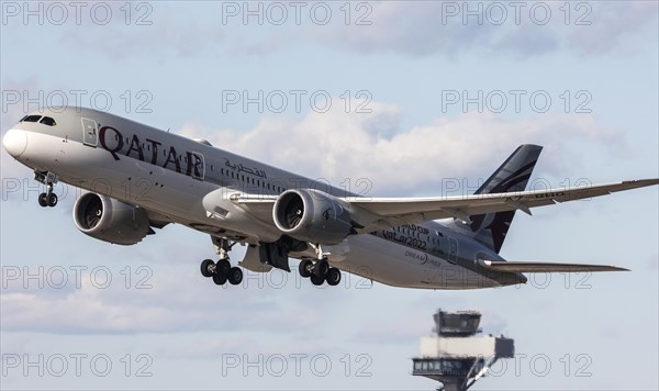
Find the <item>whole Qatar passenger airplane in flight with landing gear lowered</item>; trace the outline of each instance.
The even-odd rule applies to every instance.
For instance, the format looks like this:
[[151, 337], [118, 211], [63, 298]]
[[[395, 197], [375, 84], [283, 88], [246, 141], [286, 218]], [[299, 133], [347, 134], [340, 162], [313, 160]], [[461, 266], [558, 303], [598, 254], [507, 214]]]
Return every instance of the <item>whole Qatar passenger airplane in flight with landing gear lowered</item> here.
[[[201, 275], [239, 284], [243, 269], [290, 271], [337, 286], [342, 271], [384, 284], [479, 289], [524, 283], [525, 272], [621, 271], [605, 265], [505, 260], [500, 250], [515, 211], [659, 183], [659, 179], [526, 190], [541, 146], [522, 145], [470, 196], [371, 198], [231, 152], [85, 108], [44, 108], [3, 136], [34, 170], [55, 206], [58, 181], [88, 190], [75, 202], [82, 233], [134, 245], [154, 228], [186, 225], [210, 235], [217, 261]], [[247, 246], [230, 260], [234, 245]]]

